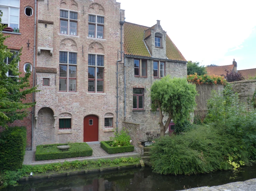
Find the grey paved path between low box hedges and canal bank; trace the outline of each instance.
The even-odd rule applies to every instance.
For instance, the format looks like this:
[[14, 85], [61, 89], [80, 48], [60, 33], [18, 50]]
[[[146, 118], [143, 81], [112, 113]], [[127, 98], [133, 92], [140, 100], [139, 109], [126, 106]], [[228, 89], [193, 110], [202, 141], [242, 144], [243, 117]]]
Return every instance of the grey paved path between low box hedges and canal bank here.
[[90, 157], [76, 157], [76, 158], [68, 158], [68, 159], [56, 159], [56, 160], [46, 160], [46, 161], [35, 161], [35, 151], [26, 151], [24, 156], [23, 164], [48, 164], [48, 163], [56, 163], [56, 162], [64, 162], [64, 161], [74, 161], [74, 160], [92, 160], [92, 159], [102, 159], [102, 158], [121, 158], [121, 157], [140, 157], [137, 152], [126, 152], [119, 154], [108, 154], [104, 151], [100, 144], [92, 144], [90, 145], [92, 148], [92, 156]]

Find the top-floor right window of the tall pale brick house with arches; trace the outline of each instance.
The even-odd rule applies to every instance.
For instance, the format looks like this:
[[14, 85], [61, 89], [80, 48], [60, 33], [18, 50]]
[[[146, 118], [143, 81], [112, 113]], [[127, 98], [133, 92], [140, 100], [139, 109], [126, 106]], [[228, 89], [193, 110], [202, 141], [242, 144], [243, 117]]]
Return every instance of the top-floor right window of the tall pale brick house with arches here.
[[88, 37], [104, 39], [105, 16], [89, 14]]

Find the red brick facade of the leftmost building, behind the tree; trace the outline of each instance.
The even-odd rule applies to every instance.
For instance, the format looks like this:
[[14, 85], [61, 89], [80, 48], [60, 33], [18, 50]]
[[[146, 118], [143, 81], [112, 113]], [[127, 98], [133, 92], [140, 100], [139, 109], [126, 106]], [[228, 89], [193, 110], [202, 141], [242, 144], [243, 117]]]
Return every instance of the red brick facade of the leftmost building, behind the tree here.
[[[30, 6], [33, 9], [33, 15], [27, 16], [25, 14], [25, 8]], [[24, 64], [30, 63], [33, 67], [33, 55], [34, 55], [34, 22], [35, 22], [35, 0], [20, 0], [20, 11], [19, 11], [19, 33], [6, 33], [3, 31], [4, 35], [10, 36], [4, 42], [9, 49], [20, 50], [23, 47], [22, 55], [19, 62], [19, 72], [20, 76], [24, 77]], [[29, 48], [28, 48], [29, 40]], [[33, 72], [29, 78], [30, 87], [33, 86]], [[24, 102], [32, 102], [32, 94], [27, 95]], [[28, 109], [28, 117], [24, 120], [17, 120], [9, 126], [26, 126], [27, 127], [27, 147], [31, 148], [31, 131], [32, 131], [32, 108]], [[3, 129], [0, 128], [0, 131]]]

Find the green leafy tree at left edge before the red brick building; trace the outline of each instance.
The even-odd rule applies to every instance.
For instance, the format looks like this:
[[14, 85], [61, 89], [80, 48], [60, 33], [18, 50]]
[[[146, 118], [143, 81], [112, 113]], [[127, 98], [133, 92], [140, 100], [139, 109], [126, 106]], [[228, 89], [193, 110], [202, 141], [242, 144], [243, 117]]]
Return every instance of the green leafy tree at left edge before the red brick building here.
[[[1, 22], [2, 12], [0, 13], [0, 31], [3, 27]], [[4, 36], [0, 32], [0, 126], [7, 128], [8, 123], [13, 123], [15, 120], [22, 120], [27, 116], [27, 108], [32, 107], [35, 103], [24, 103], [27, 94], [37, 92], [36, 87], [29, 88], [30, 70], [24, 77], [19, 77], [20, 72], [18, 62], [20, 61], [21, 50], [17, 57], [11, 53], [4, 41], [9, 36]], [[6, 63], [6, 58], [12, 59], [10, 63]], [[7, 72], [11, 72], [12, 76], [8, 77]]]

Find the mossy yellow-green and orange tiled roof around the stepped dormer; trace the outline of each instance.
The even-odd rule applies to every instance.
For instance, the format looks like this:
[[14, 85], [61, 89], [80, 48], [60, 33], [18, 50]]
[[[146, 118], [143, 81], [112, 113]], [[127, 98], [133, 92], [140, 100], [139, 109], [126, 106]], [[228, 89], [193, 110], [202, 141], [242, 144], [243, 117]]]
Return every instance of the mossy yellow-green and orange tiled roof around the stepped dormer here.
[[[152, 27], [145, 27], [139, 24], [125, 22], [124, 23], [124, 53], [127, 55], [133, 55], [133, 56], [151, 57], [143, 41], [144, 31], [150, 31], [149, 29], [151, 28]], [[186, 62], [186, 59], [183, 57], [182, 53], [180, 53], [180, 51], [175, 46], [175, 44], [171, 41], [168, 35], [166, 38], [166, 56], [170, 60], [178, 60], [178, 61]]]

